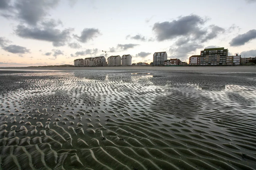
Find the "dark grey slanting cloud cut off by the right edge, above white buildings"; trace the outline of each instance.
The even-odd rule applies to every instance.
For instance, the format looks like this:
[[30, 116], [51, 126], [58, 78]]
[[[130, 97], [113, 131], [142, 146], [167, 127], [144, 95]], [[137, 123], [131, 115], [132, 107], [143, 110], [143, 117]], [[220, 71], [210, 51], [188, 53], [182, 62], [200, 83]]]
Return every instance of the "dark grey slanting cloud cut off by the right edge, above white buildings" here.
[[229, 44], [231, 46], [240, 46], [256, 38], [256, 30], [249, 30], [244, 34], [240, 34], [234, 37]]

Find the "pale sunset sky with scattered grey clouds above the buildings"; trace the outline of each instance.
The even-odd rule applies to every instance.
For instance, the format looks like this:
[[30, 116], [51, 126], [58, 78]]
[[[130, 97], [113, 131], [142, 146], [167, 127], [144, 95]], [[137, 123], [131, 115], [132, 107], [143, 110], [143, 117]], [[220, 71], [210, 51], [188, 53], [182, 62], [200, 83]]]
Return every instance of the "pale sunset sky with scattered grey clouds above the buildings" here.
[[0, 67], [130, 54], [188, 61], [204, 48], [256, 56], [256, 0], [0, 0]]

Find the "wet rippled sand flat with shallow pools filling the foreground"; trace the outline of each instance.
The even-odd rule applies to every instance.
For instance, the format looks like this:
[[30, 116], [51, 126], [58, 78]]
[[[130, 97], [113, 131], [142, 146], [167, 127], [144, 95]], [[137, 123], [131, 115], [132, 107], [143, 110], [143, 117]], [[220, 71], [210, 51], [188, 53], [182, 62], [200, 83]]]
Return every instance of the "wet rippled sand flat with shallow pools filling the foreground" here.
[[255, 168], [253, 71], [6, 70], [0, 84], [0, 169]]

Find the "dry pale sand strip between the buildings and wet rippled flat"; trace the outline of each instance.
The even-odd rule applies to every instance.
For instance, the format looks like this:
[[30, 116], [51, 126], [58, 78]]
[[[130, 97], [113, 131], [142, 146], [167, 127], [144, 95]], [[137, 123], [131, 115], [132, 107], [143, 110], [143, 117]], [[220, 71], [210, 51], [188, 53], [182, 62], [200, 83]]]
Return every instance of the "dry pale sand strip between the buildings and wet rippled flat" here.
[[116, 67], [48, 67], [24, 68], [6, 67], [0, 69], [29, 69], [29, 70], [140, 70], [140, 71], [206, 71], [206, 72], [256, 72], [256, 66], [116, 66]]

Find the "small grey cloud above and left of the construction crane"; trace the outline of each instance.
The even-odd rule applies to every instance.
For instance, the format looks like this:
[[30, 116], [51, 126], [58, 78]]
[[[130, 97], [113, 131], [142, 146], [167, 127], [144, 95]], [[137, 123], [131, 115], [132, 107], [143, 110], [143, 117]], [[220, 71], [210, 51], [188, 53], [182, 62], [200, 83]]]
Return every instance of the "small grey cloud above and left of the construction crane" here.
[[93, 40], [93, 38], [96, 38], [99, 35], [101, 35], [99, 29], [84, 28], [80, 36], [73, 34], [73, 37], [76, 38], [79, 42], [87, 43], [89, 40]]

